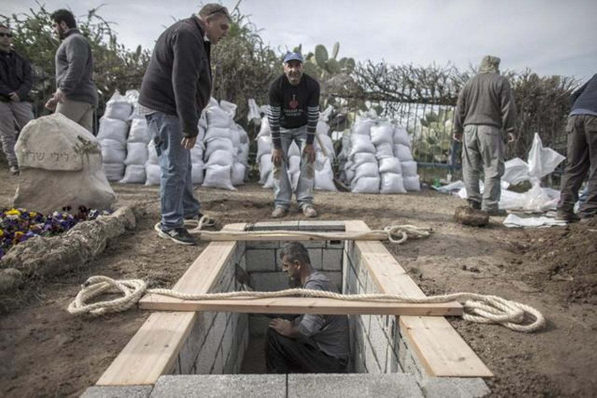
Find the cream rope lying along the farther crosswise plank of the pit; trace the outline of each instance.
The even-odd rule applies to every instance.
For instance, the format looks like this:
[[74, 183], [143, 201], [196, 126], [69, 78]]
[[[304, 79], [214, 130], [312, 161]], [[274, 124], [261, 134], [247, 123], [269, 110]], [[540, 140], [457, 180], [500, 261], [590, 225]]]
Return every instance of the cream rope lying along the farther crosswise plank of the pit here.
[[[350, 240], [389, 240], [392, 243], [401, 244], [407, 239], [418, 239], [427, 237], [431, 234], [431, 229], [421, 228], [410, 224], [387, 226], [381, 230], [371, 230], [367, 232], [356, 233], [317, 233], [307, 231], [207, 231], [205, 226], [210, 226], [211, 219], [207, 215], [201, 217], [200, 220], [184, 220], [184, 226], [187, 227], [189, 233], [193, 235], [201, 235], [208, 240], [218, 240], [218, 238], [226, 237], [226, 240], [235, 240], [241, 237], [255, 236], [255, 237], [272, 237], [272, 239], [287, 239], [291, 240], [293, 237], [308, 236], [312, 239], [350, 239]], [[160, 224], [155, 224], [155, 230], [158, 230]]]

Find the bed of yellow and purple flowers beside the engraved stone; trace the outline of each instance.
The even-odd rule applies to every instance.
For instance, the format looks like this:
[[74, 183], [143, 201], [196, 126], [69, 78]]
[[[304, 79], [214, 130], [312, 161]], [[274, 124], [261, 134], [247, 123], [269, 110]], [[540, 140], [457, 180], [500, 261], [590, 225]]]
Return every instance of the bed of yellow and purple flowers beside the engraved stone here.
[[44, 215], [26, 209], [2, 209], [0, 212], [0, 258], [14, 245], [25, 242], [36, 236], [55, 236], [66, 232], [80, 221], [95, 220], [99, 215], [110, 214], [109, 211], [79, 208], [76, 214], [55, 211]]

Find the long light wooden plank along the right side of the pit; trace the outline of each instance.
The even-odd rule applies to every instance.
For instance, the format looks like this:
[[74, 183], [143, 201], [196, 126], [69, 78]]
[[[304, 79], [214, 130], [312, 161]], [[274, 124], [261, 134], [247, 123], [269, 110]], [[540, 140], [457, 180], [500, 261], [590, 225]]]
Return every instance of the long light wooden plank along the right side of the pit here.
[[[347, 232], [369, 229], [363, 221], [346, 221]], [[381, 242], [355, 241], [355, 251], [384, 293], [421, 297], [423, 291]], [[399, 326], [423, 370], [436, 377], [493, 377], [493, 373], [443, 317], [401, 316]]]

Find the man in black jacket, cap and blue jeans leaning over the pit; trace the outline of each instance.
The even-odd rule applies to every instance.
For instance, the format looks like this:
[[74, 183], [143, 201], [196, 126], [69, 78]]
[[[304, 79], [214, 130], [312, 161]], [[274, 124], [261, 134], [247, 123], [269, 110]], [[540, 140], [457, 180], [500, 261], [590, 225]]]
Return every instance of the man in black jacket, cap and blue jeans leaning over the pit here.
[[199, 133], [201, 111], [210, 101], [210, 48], [229, 26], [226, 7], [206, 4], [197, 15], [168, 27], [153, 48], [141, 84], [139, 104], [162, 171], [162, 219], [156, 230], [183, 245], [195, 244], [184, 219], [202, 215], [193, 195], [189, 150]]

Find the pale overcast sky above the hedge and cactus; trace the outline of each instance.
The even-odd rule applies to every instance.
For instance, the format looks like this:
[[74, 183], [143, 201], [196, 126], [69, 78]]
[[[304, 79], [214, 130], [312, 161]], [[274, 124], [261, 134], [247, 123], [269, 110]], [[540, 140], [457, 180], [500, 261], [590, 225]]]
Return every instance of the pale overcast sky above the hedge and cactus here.
[[[231, 9], [238, 0], [223, 0]], [[153, 42], [174, 20], [201, 2], [182, 0], [47, 0], [48, 10], [98, 14], [127, 47]], [[0, 14], [28, 13], [33, 0], [2, 0]], [[427, 66], [448, 63], [464, 70], [486, 54], [501, 69], [530, 68], [540, 75], [586, 80], [597, 73], [595, 0], [242, 0], [266, 44], [303, 53], [340, 42], [339, 57]]]

